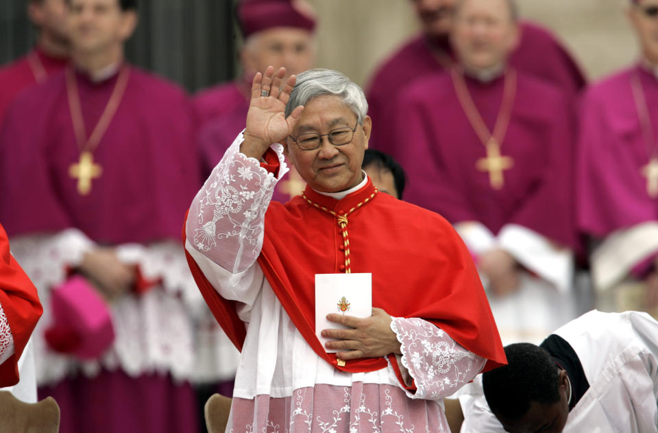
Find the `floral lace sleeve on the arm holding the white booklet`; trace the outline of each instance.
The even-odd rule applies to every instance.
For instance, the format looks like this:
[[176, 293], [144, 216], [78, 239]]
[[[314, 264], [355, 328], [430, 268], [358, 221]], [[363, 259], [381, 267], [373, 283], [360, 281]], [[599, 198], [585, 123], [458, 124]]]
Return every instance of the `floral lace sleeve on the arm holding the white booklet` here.
[[391, 329], [400, 341], [403, 377], [413, 379], [417, 388], [415, 393], [406, 390], [409, 398], [448, 397], [480, 373], [487, 361], [426, 320], [393, 318]]

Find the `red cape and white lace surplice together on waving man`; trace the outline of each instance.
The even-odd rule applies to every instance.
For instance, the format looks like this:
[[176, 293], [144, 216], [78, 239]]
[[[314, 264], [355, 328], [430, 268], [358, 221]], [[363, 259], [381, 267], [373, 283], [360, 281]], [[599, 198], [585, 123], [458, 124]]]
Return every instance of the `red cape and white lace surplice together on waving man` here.
[[[206, 302], [216, 316], [222, 305], [232, 305], [232, 310], [226, 310], [226, 315], [232, 318], [217, 318], [227, 332], [233, 331], [234, 342], [242, 346], [227, 431], [448, 432], [443, 397], [475, 377], [485, 368], [487, 359], [489, 367], [504, 362], [486, 300], [459, 237], [438, 215], [397, 202], [385, 194], [350, 214], [352, 270], [373, 272], [374, 288], [395, 293], [380, 299], [389, 304], [387, 311], [394, 309], [391, 305], [396, 303], [395, 296], [398, 296], [398, 312], [405, 307], [408, 311], [437, 307], [444, 311], [427, 320], [400, 316], [393, 319], [391, 329], [401, 343], [402, 356], [389, 355], [388, 363], [381, 358], [365, 358], [337, 367], [335, 358], [327, 358], [321, 345], [318, 347], [306, 311], [310, 305], [310, 315], [314, 314], [314, 301], [308, 299], [308, 290], [313, 290], [313, 283], [309, 282], [313, 280], [313, 270], [326, 273], [344, 269], [334, 260], [335, 252], [342, 254], [339, 246], [332, 245], [337, 239], [335, 220], [328, 213], [310, 207], [299, 196], [285, 207], [270, 204], [273, 188], [287, 169], [282, 148], [272, 146], [277, 154], [273, 158], [278, 158], [273, 175], [256, 159], [239, 152], [242, 141], [240, 134], [197, 194], [185, 229], [186, 250], [197, 283], [202, 290], [206, 287], [211, 290], [204, 292]], [[365, 178], [361, 185], [339, 195], [322, 196], [308, 188], [306, 194], [321, 203], [351, 206], [350, 203], [368, 196], [371, 190], [374, 187]], [[363, 239], [364, 233], [374, 230], [373, 224], [383, 224], [378, 218], [387, 215], [390, 222], [388, 212], [393, 208], [400, 209], [395, 218], [402, 218], [406, 209], [418, 220], [409, 221], [406, 227], [394, 224], [388, 233], [382, 227], [380, 239], [370, 234], [367, 235], [370, 241]], [[317, 224], [306, 223], [308, 227], [301, 230], [308, 218], [317, 218]], [[428, 228], [430, 221], [433, 223]], [[420, 248], [413, 255], [422, 255], [422, 259], [416, 257], [418, 261], [431, 262], [442, 270], [440, 279], [435, 279], [441, 281], [441, 288], [429, 289], [431, 284], [426, 283], [422, 285], [425, 291], [408, 298], [402, 296], [399, 284], [390, 281], [408, 280], [410, 288], [404, 291], [406, 294], [417, 287], [413, 281], [433, 279], [432, 274], [421, 276], [415, 265], [409, 264], [414, 272], [404, 274], [402, 264], [415, 260], [404, 253], [401, 255], [406, 260], [401, 257], [396, 261], [400, 268], [385, 264], [395, 255], [396, 246], [400, 247], [400, 237], [417, 233], [419, 226], [433, 234], [415, 238], [413, 242], [408, 239], [411, 244], [398, 249], [411, 252], [415, 247]], [[317, 239], [300, 242], [300, 236], [313, 230], [321, 233], [320, 242]], [[385, 240], [387, 234], [390, 242]], [[273, 253], [273, 248], [285, 249], [286, 241], [295, 252], [292, 256], [302, 259], [298, 269], [275, 263], [277, 257], [284, 264], [291, 260], [291, 254], [284, 250], [280, 250], [280, 256]], [[369, 246], [387, 253], [371, 253]], [[312, 257], [300, 257], [298, 249], [306, 250]], [[309, 274], [307, 268], [314, 258]], [[374, 269], [365, 266], [365, 262]], [[303, 286], [304, 290], [289, 292], [284, 281], [296, 288]], [[376, 290], [374, 306], [378, 306]], [[459, 338], [453, 339], [434, 323], [443, 323]], [[458, 339], [473, 351], [456, 342]], [[360, 363], [365, 369], [361, 370]]]

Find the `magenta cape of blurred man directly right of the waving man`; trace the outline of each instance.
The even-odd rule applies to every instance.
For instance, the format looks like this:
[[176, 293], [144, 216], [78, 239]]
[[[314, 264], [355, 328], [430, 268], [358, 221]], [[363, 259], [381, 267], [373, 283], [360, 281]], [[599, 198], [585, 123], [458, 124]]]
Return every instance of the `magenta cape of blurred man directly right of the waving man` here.
[[[487, 128], [493, 130], [504, 78], [465, 82]], [[461, 108], [452, 75], [428, 75], [407, 86], [400, 96], [395, 137], [402, 150], [400, 162], [409, 174], [405, 198], [453, 224], [477, 221], [493, 235], [507, 224], [517, 224], [572, 246], [571, 106], [561, 91], [527, 74], [517, 73], [516, 87], [500, 147], [513, 166], [503, 170], [502, 188], [494, 189], [489, 173], [476, 167], [487, 150]]]

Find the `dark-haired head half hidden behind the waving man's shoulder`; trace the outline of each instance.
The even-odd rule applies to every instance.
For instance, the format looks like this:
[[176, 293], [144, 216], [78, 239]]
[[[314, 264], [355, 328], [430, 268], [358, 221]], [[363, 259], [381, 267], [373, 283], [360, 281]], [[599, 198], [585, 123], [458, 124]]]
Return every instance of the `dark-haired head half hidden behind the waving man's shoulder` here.
[[380, 192], [402, 200], [406, 174], [391, 155], [376, 149], [366, 149], [361, 167]]

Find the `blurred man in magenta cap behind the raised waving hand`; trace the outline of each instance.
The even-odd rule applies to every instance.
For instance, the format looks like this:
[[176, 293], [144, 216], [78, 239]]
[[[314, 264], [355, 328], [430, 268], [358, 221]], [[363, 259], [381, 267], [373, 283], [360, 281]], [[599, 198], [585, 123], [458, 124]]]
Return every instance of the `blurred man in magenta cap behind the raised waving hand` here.
[[[197, 95], [195, 104], [202, 130], [199, 134], [203, 176], [210, 175], [228, 143], [245, 128], [249, 89], [256, 72], [268, 66], [286, 68], [295, 75], [313, 67], [315, 16], [300, 0], [242, 0], [236, 16], [243, 36], [241, 77]], [[287, 79], [287, 78], [286, 78]], [[273, 199], [287, 202], [300, 194], [304, 181], [296, 169], [277, 186]]]

